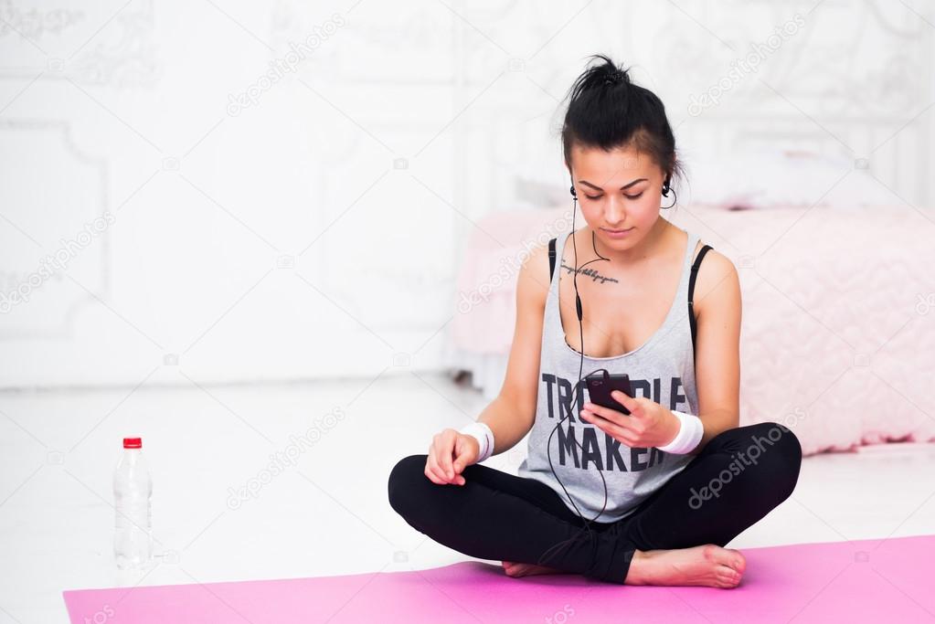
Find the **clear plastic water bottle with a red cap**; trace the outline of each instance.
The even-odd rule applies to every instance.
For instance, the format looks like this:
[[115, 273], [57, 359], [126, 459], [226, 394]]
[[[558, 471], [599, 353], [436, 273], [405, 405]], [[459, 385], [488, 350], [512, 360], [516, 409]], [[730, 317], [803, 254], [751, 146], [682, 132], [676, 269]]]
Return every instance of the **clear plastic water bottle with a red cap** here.
[[142, 439], [123, 438], [123, 455], [114, 471], [114, 557], [119, 568], [146, 567], [151, 560], [151, 497], [152, 478]]

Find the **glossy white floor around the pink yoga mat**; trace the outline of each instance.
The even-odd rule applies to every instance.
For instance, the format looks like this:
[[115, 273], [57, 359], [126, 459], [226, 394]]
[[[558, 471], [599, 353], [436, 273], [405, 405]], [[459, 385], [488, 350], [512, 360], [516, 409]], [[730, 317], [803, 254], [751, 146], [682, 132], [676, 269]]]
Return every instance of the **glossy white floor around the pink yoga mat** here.
[[[443, 376], [414, 375], [0, 392], [0, 624], [66, 622], [63, 589], [465, 560], [396, 516], [386, 477], [399, 458], [425, 452], [433, 433], [460, 427], [483, 405]], [[112, 558], [111, 478], [124, 435], [143, 437], [154, 481], [159, 557], [144, 573], [118, 574]], [[525, 442], [488, 464], [515, 471], [524, 455]], [[806, 458], [792, 497], [729, 546], [935, 533], [931, 475], [935, 445]]]

